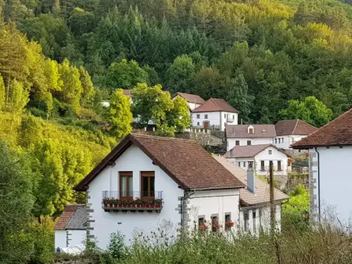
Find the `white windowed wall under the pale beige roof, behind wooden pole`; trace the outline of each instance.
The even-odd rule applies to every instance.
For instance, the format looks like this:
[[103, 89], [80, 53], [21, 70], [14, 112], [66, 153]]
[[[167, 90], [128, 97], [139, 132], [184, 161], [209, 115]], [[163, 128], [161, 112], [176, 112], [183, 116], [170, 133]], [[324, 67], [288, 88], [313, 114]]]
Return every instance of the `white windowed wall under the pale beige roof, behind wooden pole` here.
[[[260, 210], [261, 210], [261, 217], [260, 217]], [[249, 213], [248, 231], [244, 230], [244, 212], [245, 211]], [[256, 218], [253, 218], [253, 211], [256, 212]], [[281, 232], [281, 204], [276, 205], [275, 219], [276, 219], [276, 229], [277, 231]], [[246, 209], [245, 207], [241, 208], [239, 223], [240, 223], [239, 230], [241, 230], [241, 232], [251, 232], [251, 234], [258, 236], [260, 232], [260, 227], [263, 228], [264, 232], [269, 232], [270, 231], [270, 206], [263, 206], [261, 208], [251, 208], [251, 209]]]

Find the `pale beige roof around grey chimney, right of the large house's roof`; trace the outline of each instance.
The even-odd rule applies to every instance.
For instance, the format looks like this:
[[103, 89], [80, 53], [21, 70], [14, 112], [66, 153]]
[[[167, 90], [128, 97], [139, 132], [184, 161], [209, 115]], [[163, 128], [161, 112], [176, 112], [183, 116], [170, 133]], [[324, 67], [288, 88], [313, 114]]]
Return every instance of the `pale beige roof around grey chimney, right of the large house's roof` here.
[[[239, 179], [243, 184], [247, 185], [247, 173], [245, 170], [239, 168], [239, 166], [234, 165], [230, 161], [227, 161], [226, 158], [214, 157], [216, 161], [221, 163], [227, 170], [229, 170], [234, 177]], [[270, 202], [270, 186], [269, 184], [263, 182], [262, 180], [256, 177], [255, 179], [255, 190], [254, 194], [251, 193], [247, 188], [239, 190], [239, 199], [241, 199], [241, 205], [244, 206], [254, 206], [260, 203], [269, 203]], [[275, 201], [282, 201], [289, 199], [287, 194], [284, 194], [279, 189], [275, 188], [274, 191]]]

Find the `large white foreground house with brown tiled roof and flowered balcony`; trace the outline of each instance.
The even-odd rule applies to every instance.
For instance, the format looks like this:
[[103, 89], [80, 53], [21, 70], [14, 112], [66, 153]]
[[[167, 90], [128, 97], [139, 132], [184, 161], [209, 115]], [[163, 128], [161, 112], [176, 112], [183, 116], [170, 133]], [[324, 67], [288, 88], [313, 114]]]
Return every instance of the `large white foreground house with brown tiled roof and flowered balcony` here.
[[225, 230], [239, 218], [244, 187], [193, 140], [129, 134], [75, 190], [87, 193], [87, 240], [106, 249], [117, 231], [129, 243], [158, 228], [174, 237], [203, 225]]

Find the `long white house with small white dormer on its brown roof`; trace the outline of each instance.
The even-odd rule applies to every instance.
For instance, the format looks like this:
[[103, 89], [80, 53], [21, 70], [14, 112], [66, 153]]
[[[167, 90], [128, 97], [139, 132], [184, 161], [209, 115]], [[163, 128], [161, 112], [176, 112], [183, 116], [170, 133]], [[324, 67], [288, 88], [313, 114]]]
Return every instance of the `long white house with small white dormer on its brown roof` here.
[[226, 125], [227, 151], [234, 146], [273, 144], [275, 125]]

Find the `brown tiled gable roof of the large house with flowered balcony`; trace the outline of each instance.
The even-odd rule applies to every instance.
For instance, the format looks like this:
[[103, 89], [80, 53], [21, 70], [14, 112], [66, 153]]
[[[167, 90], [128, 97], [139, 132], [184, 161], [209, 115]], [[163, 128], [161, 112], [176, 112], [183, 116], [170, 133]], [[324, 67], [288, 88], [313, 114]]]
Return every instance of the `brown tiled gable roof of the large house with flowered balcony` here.
[[84, 179], [75, 190], [85, 191], [99, 172], [115, 161], [132, 144], [136, 145], [182, 189], [241, 188], [244, 185], [215, 161], [194, 140], [129, 134]]

